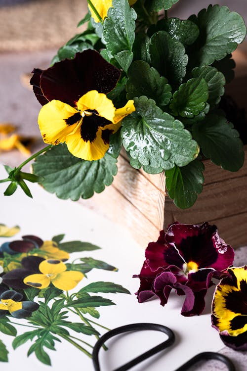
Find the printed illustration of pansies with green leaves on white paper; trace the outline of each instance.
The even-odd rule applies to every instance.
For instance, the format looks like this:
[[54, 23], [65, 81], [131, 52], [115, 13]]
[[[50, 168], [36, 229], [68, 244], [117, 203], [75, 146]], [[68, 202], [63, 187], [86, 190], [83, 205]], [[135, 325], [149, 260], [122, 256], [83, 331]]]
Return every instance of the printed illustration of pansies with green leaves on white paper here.
[[[17, 232], [17, 226], [8, 228], [0, 224], [0, 237], [10, 237]], [[90, 257], [71, 259], [71, 253], [100, 247], [82, 241], [62, 242], [63, 239], [64, 234], [49, 241], [25, 235], [21, 240], [0, 245], [0, 332], [14, 336], [13, 349], [31, 340], [27, 355], [34, 353], [45, 365], [51, 365], [47, 350], [56, 350], [56, 343], [61, 341], [69, 342], [91, 357], [94, 344], [88, 343], [85, 335], [93, 335], [96, 341], [100, 334], [95, 325], [108, 329], [96, 322], [100, 317], [96, 308], [115, 304], [95, 294], [129, 293], [113, 282], [83, 284], [83, 278], [94, 268], [107, 271], [117, 271], [117, 268]], [[78, 316], [78, 322], [69, 321], [70, 312]], [[18, 334], [19, 325], [27, 331]], [[71, 331], [78, 335], [74, 336]], [[0, 340], [1, 362], [8, 362], [8, 353]]]

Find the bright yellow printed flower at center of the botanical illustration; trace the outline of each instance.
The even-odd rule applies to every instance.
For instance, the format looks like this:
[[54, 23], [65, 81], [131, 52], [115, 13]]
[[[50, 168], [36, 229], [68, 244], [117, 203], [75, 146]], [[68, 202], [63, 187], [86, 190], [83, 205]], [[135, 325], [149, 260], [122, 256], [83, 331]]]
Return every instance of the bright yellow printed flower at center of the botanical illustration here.
[[71, 290], [84, 277], [81, 272], [68, 271], [66, 265], [61, 260], [47, 259], [39, 265], [41, 274], [34, 274], [24, 278], [23, 282], [36, 288], [46, 288], [52, 283], [61, 290]]

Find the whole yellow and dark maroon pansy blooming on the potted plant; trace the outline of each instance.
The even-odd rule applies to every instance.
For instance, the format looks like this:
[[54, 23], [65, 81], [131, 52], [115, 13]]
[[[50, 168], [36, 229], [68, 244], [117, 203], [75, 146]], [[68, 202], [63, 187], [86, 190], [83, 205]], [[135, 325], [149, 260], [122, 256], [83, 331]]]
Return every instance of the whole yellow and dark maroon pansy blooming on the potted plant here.
[[44, 142], [65, 142], [83, 160], [102, 158], [109, 149], [110, 135], [135, 110], [133, 100], [116, 109], [106, 96], [117, 85], [121, 71], [89, 49], [33, 72], [30, 83], [43, 105], [38, 122]]

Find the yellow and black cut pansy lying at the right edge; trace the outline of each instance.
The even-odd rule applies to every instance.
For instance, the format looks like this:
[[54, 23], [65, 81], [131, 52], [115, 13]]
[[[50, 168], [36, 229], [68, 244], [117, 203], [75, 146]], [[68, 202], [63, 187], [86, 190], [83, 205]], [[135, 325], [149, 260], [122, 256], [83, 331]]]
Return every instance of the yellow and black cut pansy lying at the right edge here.
[[235, 350], [247, 350], [247, 266], [230, 268], [215, 288], [212, 326]]

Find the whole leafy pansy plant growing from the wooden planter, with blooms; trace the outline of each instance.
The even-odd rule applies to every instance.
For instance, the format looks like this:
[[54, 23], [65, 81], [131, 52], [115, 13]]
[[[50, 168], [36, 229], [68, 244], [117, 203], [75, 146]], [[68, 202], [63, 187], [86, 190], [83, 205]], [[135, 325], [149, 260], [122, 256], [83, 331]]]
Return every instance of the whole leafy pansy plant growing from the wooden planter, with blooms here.
[[[113, 182], [124, 147], [132, 167], [165, 172], [178, 207], [192, 206], [203, 189], [203, 158], [229, 171], [244, 163], [239, 133], [219, 109], [234, 76], [231, 53], [246, 37], [243, 18], [219, 5], [169, 18], [178, 0], [87, 2], [79, 23], [87, 29], [49, 68], [33, 70], [49, 145], [5, 167], [4, 194], [20, 185], [32, 196], [30, 181], [63, 199], [91, 197]], [[33, 159], [32, 174], [22, 172]]]

